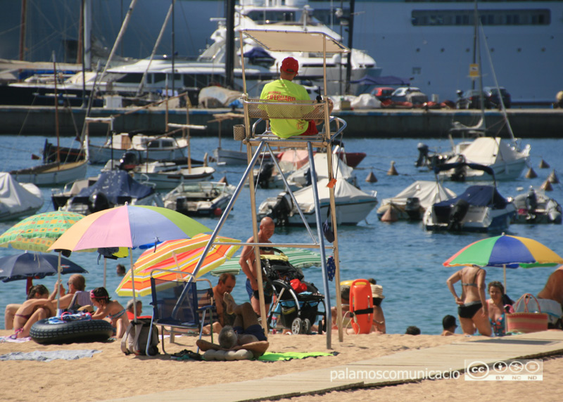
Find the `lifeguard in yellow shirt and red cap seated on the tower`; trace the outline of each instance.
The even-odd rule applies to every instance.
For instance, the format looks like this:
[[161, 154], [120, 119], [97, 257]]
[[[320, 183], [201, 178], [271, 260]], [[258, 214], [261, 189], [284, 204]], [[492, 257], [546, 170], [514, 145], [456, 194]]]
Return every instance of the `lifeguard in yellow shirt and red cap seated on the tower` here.
[[[260, 99], [275, 100], [282, 102], [295, 102], [297, 100], [310, 100], [305, 87], [293, 82], [297, 77], [299, 63], [292, 57], [284, 58], [279, 67], [279, 79], [269, 82], [262, 89]], [[329, 99], [329, 114], [332, 112], [333, 104]], [[317, 134], [317, 124], [321, 124], [319, 120], [304, 119], [271, 119], [270, 127], [272, 133], [280, 138], [289, 138], [291, 136], [312, 136]]]

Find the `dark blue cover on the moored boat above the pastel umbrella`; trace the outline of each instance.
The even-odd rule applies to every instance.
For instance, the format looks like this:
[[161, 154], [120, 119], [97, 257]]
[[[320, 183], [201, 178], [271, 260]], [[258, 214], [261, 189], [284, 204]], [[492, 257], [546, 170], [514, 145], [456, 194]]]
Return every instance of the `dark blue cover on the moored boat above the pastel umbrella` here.
[[83, 188], [77, 197], [89, 197], [97, 193], [106, 195], [110, 202], [118, 203], [118, 197], [141, 199], [154, 193], [154, 188], [145, 186], [133, 179], [127, 171], [104, 171], [96, 183]]

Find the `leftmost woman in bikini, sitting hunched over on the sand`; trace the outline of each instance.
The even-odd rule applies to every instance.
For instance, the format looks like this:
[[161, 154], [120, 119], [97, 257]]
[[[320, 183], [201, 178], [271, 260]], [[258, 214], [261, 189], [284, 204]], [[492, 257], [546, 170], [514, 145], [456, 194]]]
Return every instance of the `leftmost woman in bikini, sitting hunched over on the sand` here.
[[23, 302], [13, 318], [13, 328], [16, 338], [30, 336], [30, 330], [34, 323], [44, 318], [55, 315], [53, 303], [49, 299], [49, 290], [44, 285], [31, 287], [27, 294], [27, 300]]

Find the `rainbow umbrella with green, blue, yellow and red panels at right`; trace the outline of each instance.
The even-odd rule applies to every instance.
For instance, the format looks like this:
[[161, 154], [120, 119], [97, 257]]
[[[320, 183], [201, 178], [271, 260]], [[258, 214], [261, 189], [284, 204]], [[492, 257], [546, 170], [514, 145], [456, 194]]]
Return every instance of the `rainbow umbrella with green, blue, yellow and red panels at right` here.
[[532, 268], [555, 266], [563, 259], [540, 242], [518, 236], [505, 235], [473, 242], [447, 259], [444, 266], [497, 266], [504, 269], [506, 290], [506, 268]]

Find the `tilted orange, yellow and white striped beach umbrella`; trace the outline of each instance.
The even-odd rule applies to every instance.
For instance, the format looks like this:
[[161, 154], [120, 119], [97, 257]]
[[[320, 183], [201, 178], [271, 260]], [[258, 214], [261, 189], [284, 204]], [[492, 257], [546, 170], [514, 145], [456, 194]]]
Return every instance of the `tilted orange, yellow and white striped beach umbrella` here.
[[[182, 273], [193, 273], [210, 238], [210, 235], [197, 235], [187, 240], [169, 240], [157, 245], [156, 249], [147, 249], [135, 262], [133, 275], [131, 271], [127, 272], [115, 292], [120, 296], [132, 296], [133, 292], [136, 296], [150, 294], [151, 272], [154, 270], [167, 270], [153, 273], [153, 278], [163, 280], [174, 280], [178, 276], [182, 277]], [[223, 245], [221, 242], [232, 243], [240, 240], [217, 236], [203, 259], [197, 277], [223, 264], [241, 247]]]

